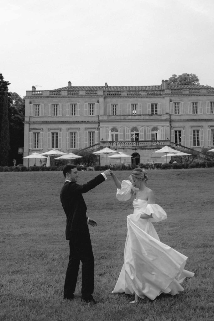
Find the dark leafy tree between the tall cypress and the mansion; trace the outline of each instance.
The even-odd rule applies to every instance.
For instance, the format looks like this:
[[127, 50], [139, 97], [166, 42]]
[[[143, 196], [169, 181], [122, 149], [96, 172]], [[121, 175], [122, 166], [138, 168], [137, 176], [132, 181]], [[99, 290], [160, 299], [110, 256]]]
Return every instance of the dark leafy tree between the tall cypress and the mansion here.
[[24, 147], [24, 109], [25, 100], [16, 92], [10, 92], [11, 104], [9, 108], [9, 129], [10, 129], [10, 163], [13, 159], [17, 164], [22, 163], [22, 154], [18, 154], [18, 148]]

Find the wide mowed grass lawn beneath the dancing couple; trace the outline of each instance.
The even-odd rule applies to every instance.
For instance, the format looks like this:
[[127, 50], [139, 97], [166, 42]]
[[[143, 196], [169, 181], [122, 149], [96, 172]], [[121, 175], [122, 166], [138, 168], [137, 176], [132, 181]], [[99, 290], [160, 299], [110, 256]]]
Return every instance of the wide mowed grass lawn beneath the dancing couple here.
[[[84, 194], [95, 257], [95, 306], [81, 301], [81, 268], [76, 299], [63, 299], [69, 246], [60, 203], [62, 172], [0, 173], [0, 320], [1, 321], [183, 321], [213, 320], [214, 169], [148, 170], [148, 187], [167, 212], [155, 223], [163, 243], [188, 256], [195, 273], [177, 296], [131, 305], [133, 296], [111, 294], [123, 265], [126, 216], [132, 202], [116, 200], [113, 180]], [[99, 172], [80, 172], [78, 183]], [[120, 180], [130, 172], [118, 171]]]

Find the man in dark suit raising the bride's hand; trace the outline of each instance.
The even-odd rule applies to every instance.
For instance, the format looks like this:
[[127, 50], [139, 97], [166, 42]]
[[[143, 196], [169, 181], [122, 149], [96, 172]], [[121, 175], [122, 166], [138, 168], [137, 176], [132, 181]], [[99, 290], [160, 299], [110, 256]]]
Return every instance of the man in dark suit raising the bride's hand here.
[[70, 255], [64, 283], [64, 299], [72, 300], [76, 288], [77, 276], [82, 262], [82, 300], [96, 303], [94, 291], [94, 256], [91, 247], [88, 224], [97, 222], [87, 217], [87, 207], [82, 197], [90, 189], [104, 182], [110, 175], [109, 169], [83, 185], [76, 184], [78, 171], [74, 165], [63, 168], [65, 183], [60, 193], [60, 200], [66, 214], [66, 240], [69, 240]]

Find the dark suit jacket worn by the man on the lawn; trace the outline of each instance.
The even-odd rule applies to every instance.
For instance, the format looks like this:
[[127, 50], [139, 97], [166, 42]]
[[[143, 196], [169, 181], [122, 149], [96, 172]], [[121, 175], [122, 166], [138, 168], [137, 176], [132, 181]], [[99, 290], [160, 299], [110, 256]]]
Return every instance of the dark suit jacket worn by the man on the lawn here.
[[65, 182], [60, 193], [60, 200], [66, 214], [66, 239], [70, 239], [71, 235], [88, 234], [87, 225], [87, 207], [82, 196], [90, 189], [96, 187], [105, 180], [102, 174], [99, 174], [89, 182], [83, 185], [74, 182]]

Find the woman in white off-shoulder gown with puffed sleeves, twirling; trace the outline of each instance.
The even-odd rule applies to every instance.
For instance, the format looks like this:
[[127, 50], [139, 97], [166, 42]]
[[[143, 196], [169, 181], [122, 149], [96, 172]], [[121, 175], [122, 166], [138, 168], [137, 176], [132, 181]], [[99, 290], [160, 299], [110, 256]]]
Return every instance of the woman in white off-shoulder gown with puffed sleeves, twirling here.
[[146, 186], [147, 173], [136, 168], [129, 180], [120, 183], [110, 172], [119, 201], [126, 201], [135, 194], [134, 212], [127, 216], [124, 265], [112, 293], [134, 294], [131, 303], [137, 303], [140, 298], [154, 300], [161, 293], [175, 295], [184, 291], [180, 283], [194, 273], [184, 270], [187, 257], [160, 242], [151, 223], [166, 220], [167, 214], [155, 204], [153, 191]]

